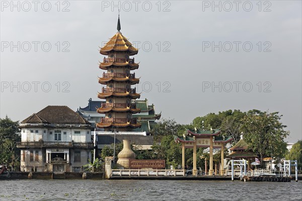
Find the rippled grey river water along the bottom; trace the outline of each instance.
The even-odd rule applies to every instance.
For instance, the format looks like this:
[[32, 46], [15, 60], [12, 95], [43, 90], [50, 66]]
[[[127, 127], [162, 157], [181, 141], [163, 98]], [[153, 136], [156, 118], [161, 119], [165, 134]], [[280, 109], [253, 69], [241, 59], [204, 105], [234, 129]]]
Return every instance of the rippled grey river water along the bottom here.
[[302, 182], [0, 180], [0, 200], [302, 200]]

